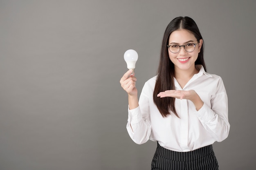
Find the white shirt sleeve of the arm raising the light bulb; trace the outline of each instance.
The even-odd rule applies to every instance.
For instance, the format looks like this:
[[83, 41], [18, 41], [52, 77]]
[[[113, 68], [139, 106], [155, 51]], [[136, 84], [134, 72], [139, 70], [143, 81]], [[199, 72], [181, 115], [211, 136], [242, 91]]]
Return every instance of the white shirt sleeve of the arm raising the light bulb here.
[[147, 90], [148, 87], [145, 84], [139, 98], [139, 106], [131, 110], [128, 108], [128, 122], [126, 128], [130, 138], [136, 144], [146, 143], [146, 141], [150, 139], [152, 130]]

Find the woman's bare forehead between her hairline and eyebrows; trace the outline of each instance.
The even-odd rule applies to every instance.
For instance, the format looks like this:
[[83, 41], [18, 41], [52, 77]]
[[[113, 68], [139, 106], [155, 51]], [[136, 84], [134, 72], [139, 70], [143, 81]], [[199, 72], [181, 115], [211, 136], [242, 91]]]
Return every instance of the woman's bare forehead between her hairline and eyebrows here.
[[196, 41], [196, 38], [193, 33], [186, 29], [173, 31], [169, 37], [169, 43], [175, 42], [178, 44], [182, 44], [190, 40]]

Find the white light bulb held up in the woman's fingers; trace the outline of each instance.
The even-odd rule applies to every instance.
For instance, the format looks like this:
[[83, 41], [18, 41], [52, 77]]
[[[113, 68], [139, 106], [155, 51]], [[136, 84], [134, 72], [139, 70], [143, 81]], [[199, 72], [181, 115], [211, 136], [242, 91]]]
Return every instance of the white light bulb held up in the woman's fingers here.
[[124, 53], [124, 60], [126, 61], [127, 68], [130, 70], [132, 69], [131, 75], [134, 74], [135, 64], [138, 60], [138, 53], [135, 50], [127, 50]]

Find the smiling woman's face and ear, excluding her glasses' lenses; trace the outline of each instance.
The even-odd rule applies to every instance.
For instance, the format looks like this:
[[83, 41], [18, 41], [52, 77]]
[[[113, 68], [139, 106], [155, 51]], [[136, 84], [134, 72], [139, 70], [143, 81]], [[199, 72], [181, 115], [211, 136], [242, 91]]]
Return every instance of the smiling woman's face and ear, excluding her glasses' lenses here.
[[198, 53], [202, 47], [203, 40], [198, 42], [195, 36], [185, 29], [173, 31], [171, 33], [168, 45], [186, 45], [189, 43], [198, 43], [195, 45], [195, 50], [193, 52], [185, 51], [184, 46], [180, 47], [180, 51], [178, 53], [172, 53], [168, 49], [168, 54], [171, 62], [174, 64], [175, 71], [193, 71], [195, 69], [195, 60], [198, 58]]

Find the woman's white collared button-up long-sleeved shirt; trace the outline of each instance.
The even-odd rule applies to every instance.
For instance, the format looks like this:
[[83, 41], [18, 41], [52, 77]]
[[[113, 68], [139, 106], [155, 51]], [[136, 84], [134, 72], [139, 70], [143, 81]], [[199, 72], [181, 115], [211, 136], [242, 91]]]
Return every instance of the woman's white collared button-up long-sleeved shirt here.
[[[162, 117], [153, 102], [156, 77], [149, 79], [139, 97], [139, 106], [128, 109], [127, 130], [131, 139], [143, 144], [149, 139], [173, 151], [188, 152], [222, 141], [229, 134], [227, 93], [218, 75], [206, 73], [201, 66], [182, 89], [174, 78], [175, 90], [194, 90], [204, 102], [200, 110], [187, 99], [175, 99], [173, 113]], [[171, 90], [171, 89], [168, 89]]]

